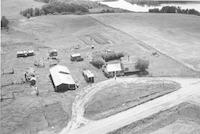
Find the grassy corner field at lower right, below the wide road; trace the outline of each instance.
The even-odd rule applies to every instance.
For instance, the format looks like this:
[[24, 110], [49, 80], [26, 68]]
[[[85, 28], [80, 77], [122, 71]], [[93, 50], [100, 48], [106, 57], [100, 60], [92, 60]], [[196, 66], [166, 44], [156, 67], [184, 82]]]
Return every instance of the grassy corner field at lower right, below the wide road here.
[[200, 107], [181, 103], [110, 134], [197, 134], [200, 133]]

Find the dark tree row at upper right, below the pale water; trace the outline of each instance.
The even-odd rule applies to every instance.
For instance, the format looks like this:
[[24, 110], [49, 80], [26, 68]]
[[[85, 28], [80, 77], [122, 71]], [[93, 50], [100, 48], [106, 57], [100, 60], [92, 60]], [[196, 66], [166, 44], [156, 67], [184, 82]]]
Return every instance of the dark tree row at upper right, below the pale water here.
[[149, 12], [153, 12], [153, 13], [182, 13], [182, 14], [200, 15], [200, 12], [198, 12], [195, 9], [181, 9], [180, 7], [175, 7], [175, 6], [164, 6], [161, 9], [158, 9], [158, 8], [149, 9]]

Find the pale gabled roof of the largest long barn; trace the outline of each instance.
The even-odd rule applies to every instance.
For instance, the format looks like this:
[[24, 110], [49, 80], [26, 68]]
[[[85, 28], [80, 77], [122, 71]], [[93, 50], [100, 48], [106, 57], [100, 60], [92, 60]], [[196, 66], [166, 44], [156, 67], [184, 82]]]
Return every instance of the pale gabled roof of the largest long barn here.
[[60, 84], [75, 84], [70, 71], [66, 66], [56, 65], [49, 69], [55, 86]]

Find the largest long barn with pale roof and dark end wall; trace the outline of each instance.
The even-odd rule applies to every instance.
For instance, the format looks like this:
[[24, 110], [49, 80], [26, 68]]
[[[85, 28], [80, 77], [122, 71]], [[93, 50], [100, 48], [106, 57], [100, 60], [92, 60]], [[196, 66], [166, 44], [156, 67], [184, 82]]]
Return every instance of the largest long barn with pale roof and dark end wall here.
[[76, 89], [76, 83], [70, 75], [70, 71], [66, 66], [56, 65], [50, 68], [49, 71], [55, 91]]

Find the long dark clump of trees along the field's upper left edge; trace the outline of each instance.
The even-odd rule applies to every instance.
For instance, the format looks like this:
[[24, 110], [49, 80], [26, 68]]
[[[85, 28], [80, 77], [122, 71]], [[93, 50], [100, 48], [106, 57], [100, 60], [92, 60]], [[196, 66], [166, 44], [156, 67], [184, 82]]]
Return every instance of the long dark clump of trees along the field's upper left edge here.
[[62, 14], [62, 13], [86, 13], [89, 12], [88, 8], [74, 3], [63, 3], [63, 2], [51, 2], [41, 9], [39, 8], [28, 8], [20, 12], [21, 15], [30, 18], [34, 16], [41, 16], [47, 14]]

